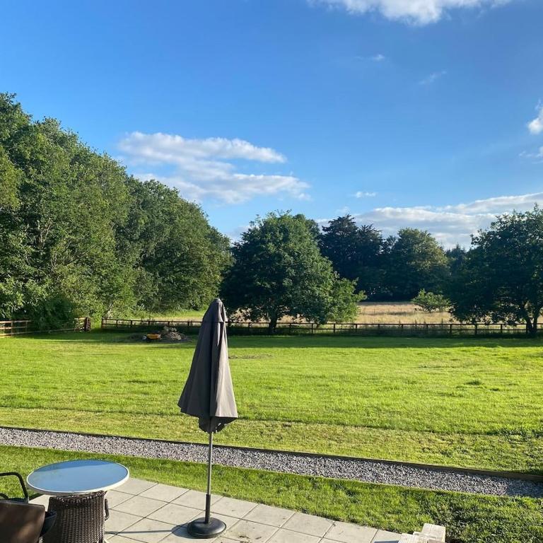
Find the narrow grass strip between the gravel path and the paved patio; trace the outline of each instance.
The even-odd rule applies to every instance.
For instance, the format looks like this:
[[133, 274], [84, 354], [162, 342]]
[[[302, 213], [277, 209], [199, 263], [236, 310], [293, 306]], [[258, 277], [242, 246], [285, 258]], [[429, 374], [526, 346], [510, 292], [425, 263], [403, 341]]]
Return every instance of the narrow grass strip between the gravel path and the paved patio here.
[[[2, 469], [25, 475], [51, 462], [93, 457], [97, 455], [0, 446]], [[204, 487], [204, 465], [122, 456], [107, 458], [129, 467], [132, 477], [190, 489]], [[8, 491], [15, 495], [16, 485]], [[450, 543], [543, 540], [543, 500], [540, 499], [433, 492], [221, 466], [214, 468], [214, 491], [394, 532], [414, 532], [424, 522], [433, 522], [447, 527]]]

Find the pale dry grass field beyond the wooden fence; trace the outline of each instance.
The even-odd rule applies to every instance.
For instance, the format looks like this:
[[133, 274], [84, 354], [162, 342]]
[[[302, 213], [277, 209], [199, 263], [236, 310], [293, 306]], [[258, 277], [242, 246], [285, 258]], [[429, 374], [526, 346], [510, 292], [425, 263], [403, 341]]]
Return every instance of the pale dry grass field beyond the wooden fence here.
[[[135, 317], [128, 315], [128, 319], [153, 320], [201, 320], [204, 310], [186, 310], [173, 314], [153, 314]], [[291, 319], [284, 319], [289, 322]], [[363, 302], [358, 305], [358, 317], [354, 322], [380, 323], [380, 324], [408, 324], [416, 322], [421, 324], [451, 322], [448, 311], [425, 313], [418, 310], [416, 305], [409, 302]]]

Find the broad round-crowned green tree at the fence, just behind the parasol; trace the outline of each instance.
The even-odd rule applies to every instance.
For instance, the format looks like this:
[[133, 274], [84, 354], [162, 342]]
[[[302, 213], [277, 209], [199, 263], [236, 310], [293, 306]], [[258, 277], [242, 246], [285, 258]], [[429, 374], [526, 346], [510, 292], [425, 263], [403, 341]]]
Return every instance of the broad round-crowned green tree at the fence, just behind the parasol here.
[[322, 257], [303, 215], [258, 218], [232, 252], [221, 286], [230, 314], [269, 320], [271, 333], [286, 315], [315, 322], [356, 315], [354, 284]]

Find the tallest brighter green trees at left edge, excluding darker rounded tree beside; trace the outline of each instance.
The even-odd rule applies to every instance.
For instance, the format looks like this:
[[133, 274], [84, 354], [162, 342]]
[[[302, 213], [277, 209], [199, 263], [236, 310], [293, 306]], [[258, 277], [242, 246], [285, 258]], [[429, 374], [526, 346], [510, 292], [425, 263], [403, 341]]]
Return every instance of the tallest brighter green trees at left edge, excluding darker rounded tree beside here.
[[8, 171], [1, 192], [7, 187], [11, 194], [0, 216], [9, 238], [0, 269], [1, 313], [62, 319], [103, 313], [111, 299], [124, 302], [131, 268], [115, 252], [128, 209], [124, 170], [54, 119], [32, 122], [13, 96], [0, 96], [0, 126]]

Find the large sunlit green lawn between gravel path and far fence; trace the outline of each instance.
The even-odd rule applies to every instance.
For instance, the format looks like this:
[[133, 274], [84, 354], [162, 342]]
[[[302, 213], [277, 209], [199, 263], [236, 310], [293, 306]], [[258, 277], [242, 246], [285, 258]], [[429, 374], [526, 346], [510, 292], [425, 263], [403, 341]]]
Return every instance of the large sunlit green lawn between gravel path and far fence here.
[[[0, 424], [202, 441], [180, 416], [195, 340], [0, 339]], [[231, 337], [218, 443], [542, 473], [543, 342]]]

